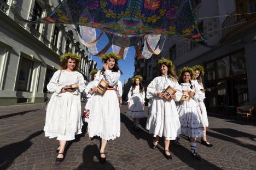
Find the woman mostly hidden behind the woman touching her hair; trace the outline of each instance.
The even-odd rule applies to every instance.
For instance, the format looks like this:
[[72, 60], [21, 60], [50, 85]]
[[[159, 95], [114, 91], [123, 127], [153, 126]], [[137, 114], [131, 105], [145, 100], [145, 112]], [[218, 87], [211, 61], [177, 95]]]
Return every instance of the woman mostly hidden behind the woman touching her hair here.
[[92, 82], [94, 81], [96, 74], [97, 74], [98, 70], [94, 69], [91, 70], [90, 75], [91, 75], [91, 81], [88, 83], [88, 85], [85, 87], [84, 93], [86, 95], [86, 104], [84, 107], [84, 116], [83, 116], [83, 121], [84, 122], [89, 122], [89, 117], [90, 117], [90, 110], [91, 110], [91, 96], [94, 94], [94, 90], [92, 88], [94, 88], [92, 86]]

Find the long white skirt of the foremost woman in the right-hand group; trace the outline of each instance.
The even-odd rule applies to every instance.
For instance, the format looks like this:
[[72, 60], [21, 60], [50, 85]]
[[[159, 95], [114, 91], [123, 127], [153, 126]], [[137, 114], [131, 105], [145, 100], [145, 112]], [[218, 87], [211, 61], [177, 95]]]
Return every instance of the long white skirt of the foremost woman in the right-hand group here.
[[150, 102], [149, 109], [146, 129], [154, 137], [164, 136], [167, 140], [174, 140], [181, 134], [181, 124], [173, 100], [167, 101], [156, 96]]

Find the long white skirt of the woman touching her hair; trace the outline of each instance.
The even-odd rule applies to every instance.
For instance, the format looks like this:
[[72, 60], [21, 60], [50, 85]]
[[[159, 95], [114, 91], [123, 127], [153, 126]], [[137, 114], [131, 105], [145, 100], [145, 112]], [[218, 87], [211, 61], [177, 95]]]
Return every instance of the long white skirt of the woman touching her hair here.
[[104, 95], [95, 94], [88, 123], [89, 136], [100, 136], [109, 141], [120, 136], [120, 108], [117, 94], [107, 90]]

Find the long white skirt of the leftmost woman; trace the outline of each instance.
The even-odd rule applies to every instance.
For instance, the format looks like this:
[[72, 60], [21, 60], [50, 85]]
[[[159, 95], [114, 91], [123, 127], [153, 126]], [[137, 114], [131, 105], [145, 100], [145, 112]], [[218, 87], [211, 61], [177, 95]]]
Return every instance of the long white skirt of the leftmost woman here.
[[79, 93], [66, 92], [59, 94], [59, 96], [54, 93], [46, 110], [45, 136], [71, 141], [75, 135], [82, 133], [82, 126]]

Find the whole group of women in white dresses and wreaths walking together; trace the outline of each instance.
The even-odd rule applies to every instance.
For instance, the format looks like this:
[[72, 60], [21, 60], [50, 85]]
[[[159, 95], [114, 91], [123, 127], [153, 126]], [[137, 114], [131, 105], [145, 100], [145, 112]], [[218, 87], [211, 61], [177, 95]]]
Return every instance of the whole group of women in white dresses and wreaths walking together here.
[[[106, 162], [106, 145], [110, 140], [120, 136], [120, 106], [122, 105], [122, 74], [118, 66], [118, 54], [103, 54], [101, 70], [90, 72], [91, 82], [85, 86], [84, 77], [78, 72], [80, 57], [67, 53], [61, 56], [61, 68], [51, 78], [47, 88], [53, 93], [46, 109], [45, 136], [57, 138], [56, 162], [65, 158], [67, 141], [82, 133], [83, 122], [88, 124], [86, 133], [89, 138], [101, 138], [99, 160]], [[169, 59], [158, 60], [159, 76], [143, 87], [143, 78], [136, 75], [127, 95], [127, 116], [133, 121], [133, 129], [138, 132], [140, 118], [145, 118], [145, 98], [148, 99], [148, 116], [146, 129], [153, 134], [150, 147], [155, 149], [161, 137], [164, 138], [163, 155], [171, 160], [170, 141], [178, 147], [181, 135], [190, 141], [191, 155], [201, 159], [196, 152], [196, 138], [207, 147], [213, 145], [207, 141], [207, 111], [203, 100], [201, 76], [205, 74], [201, 65], [193, 68], [184, 67], [176, 75], [173, 62]], [[106, 87], [101, 85], [102, 80]], [[168, 88], [172, 94], [166, 93]], [[100, 93], [101, 90], [104, 92]], [[86, 104], [81, 113], [80, 93], [84, 93]], [[169, 98], [167, 98], [167, 95]]]

